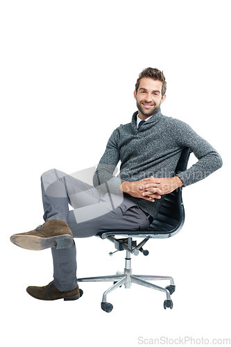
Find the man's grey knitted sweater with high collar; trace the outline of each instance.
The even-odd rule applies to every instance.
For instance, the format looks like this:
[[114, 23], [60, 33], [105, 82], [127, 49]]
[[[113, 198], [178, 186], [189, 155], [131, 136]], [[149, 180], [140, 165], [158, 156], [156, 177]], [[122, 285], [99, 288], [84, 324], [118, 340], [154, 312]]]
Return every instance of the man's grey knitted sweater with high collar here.
[[[166, 117], [159, 109], [137, 130], [137, 114], [134, 113], [131, 123], [121, 124], [110, 136], [93, 178], [98, 189], [119, 194], [119, 186], [124, 180], [173, 177], [185, 147], [194, 152], [198, 162], [177, 175], [184, 187], [202, 180], [222, 166], [219, 153], [183, 121]], [[120, 172], [114, 176], [119, 160]], [[152, 203], [143, 198], [126, 196], [154, 218], [163, 201], [161, 198]]]

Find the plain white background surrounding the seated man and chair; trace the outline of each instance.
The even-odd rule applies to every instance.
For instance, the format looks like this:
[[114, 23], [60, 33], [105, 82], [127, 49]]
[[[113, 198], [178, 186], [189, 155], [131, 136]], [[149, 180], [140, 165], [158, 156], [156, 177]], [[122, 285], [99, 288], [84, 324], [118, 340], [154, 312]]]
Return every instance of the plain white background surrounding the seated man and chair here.
[[[138, 337], [230, 336], [230, 1], [2, 0], [1, 323], [4, 346], [139, 346]], [[185, 226], [146, 244], [134, 273], [176, 281], [173, 310], [160, 291], [82, 283], [78, 301], [37, 301], [28, 285], [52, 280], [51, 251], [10, 243], [42, 219], [40, 175], [99, 162], [112, 130], [136, 110], [145, 67], [164, 71], [162, 113], [186, 121], [219, 151], [223, 167], [183, 189]], [[195, 159], [191, 157], [190, 162]], [[78, 277], [113, 274], [123, 253], [76, 239]], [[228, 318], [227, 315], [228, 314]], [[141, 341], [141, 340], [139, 340]]]

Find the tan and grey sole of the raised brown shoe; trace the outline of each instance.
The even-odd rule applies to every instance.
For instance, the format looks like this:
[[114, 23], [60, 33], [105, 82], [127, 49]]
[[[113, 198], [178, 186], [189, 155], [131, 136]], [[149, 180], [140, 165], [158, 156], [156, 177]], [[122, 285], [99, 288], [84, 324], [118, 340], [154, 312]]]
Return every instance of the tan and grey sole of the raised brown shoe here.
[[55, 247], [56, 249], [68, 248], [73, 244], [71, 235], [60, 235], [53, 237], [39, 237], [34, 235], [12, 235], [12, 244], [31, 251], [42, 251], [42, 249]]

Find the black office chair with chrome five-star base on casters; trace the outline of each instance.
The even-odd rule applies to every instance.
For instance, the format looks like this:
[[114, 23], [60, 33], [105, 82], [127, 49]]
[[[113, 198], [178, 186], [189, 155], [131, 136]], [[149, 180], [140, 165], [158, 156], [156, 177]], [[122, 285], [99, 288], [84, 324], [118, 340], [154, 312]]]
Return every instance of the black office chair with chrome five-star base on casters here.
[[[176, 167], [176, 174], [187, 169], [190, 152], [191, 151], [189, 148], [182, 150], [180, 160]], [[180, 187], [165, 195], [160, 211], [157, 214], [157, 218], [153, 221], [153, 223], [151, 223], [147, 230], [109, 230], [107, 232], [99, 232], [99, 234], [96, 235], [102, 239], [108, 239], [113, 242], [117, 251], [126, 251], [125, 268], [123, 273], [117, 271], [117, 274], [112, 276], [79, 278], [78, 282], [114, 282], [112, 287], [103, 293], [101, 309], [105, 312], [111, 312], [113, 309], [112, 304], [107, 302], [107, 295], [122, 285], [124, 285], [125, 288], [130, 288], [132, 283], [159, 291], [164, 291], [166, 294], [164, 309], [166, 309], [166, 307], [170, 307], [170, 309], [172, 309], [173, 301], [171, 300], [171, 294], [173, 294], [176, 289], [173, 278], [166, 276], [132, 275], [130, 255], [138, 255], [139, 252], [142, 252], [144, 255], [148, 255], [148, 251], [144, 250], [143, 248], [148, 239], [163, 239], [172, 237], [180, 231], [184, 221], [185, 210], [182, 203], [182, 187]], [[117, 238], [118, 236], [119, 238]], [[133, 241], [132, 237], [144, 239], [142, 242], [137, 244], [137, 241]], [[117, 251], [110, 252], [109, 254], [112, 255]], [[153, 285], [151, 282], [148, 282], [150, 280], [170, 280], [170, 285], [165, 288], [159, 287], [157, 285]]]

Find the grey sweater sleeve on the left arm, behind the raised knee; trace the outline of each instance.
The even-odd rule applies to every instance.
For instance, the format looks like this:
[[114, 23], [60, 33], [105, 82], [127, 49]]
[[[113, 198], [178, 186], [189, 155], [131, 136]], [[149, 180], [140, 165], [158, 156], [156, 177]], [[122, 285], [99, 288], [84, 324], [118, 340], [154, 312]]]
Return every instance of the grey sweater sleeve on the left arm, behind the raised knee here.
[[105, 152], [103, 153], [93, 176], [94, 187], [97, 187], [105, 193], [110, 192], [119, 194], [119, 186], [122, 183], [119, 177], [113, 176], [114, 169], [117, 167], [120, 159], [119, 149], [117, 146], [118, 136], [116, 129], [108, 140]]

